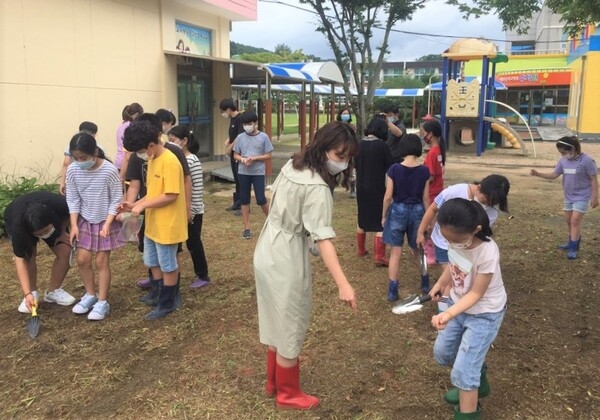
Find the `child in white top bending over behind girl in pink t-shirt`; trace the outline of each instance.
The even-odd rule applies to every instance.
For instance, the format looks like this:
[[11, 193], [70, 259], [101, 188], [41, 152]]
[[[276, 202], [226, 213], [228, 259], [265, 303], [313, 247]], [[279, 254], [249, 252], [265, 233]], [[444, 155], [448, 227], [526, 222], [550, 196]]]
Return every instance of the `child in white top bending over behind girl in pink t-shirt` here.
[[[456, 184], [445, 188], [427, 208], [417, 232], [417, 245], [425, 245], [425, 234], [429, 233], [435, 248], [436, 262], [442, 266], [448, 264], [448, 242], [440, 231], [436, 222], [440, 207], [452, 198], [463, 198], [477, 201], [488, 215], [490, 226], [498, 219], [499, 211], [508, 212], [508, 191], [510, 183], [502, 175], [488, 175], [480, 182], [473, 184]], [[444, 291], [442, 301], [438, 304], [439, 310], [445, 309], [445, 300], [449, 290]]]

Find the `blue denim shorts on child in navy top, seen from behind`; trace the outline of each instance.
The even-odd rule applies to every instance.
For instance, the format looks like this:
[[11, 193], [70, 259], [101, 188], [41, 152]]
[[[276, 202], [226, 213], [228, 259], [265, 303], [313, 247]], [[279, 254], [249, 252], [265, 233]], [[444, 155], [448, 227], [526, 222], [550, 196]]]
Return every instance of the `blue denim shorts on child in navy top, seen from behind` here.
[[392, 202], [383, 227], [383, 242], [391, 246], [404, 245], [404, 235], [408, 246], [417, 248], [417, 230], [425, 214], [423, 204]]

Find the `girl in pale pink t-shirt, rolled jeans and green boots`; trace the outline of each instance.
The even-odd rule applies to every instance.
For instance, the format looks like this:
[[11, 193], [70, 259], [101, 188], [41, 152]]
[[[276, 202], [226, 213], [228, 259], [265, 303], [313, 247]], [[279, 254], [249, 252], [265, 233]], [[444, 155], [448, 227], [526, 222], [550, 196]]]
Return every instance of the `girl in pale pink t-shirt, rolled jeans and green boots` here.
[[446, 401], [455, 413], [479, 415], [478, 400], [490, 392], [485, 356], [506, 312], [500, 252], [491, 239], [489, 218], [475, 201], [446, 201], [437, 222], [448, 242], [449, 261], [430, 295], [439, 300], [439, 292], [447, 286], [451, 291], [448, 309], [431, 318], [438, 330], [433, 353], [440, 365], [452, 366], [456, 388], [445, 394]]

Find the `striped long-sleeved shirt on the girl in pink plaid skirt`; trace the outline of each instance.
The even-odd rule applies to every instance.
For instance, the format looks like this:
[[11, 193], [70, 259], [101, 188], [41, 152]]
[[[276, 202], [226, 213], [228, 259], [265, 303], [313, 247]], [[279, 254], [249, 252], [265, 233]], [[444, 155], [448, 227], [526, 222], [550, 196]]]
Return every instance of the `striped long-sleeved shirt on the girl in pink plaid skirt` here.
[[122, 199], [119, 170], [109, 161], [91, 171], [79, 168], [77, 162], [67, 168], [69, 213], [78, 213], [88, 223], [101, 223], [109, 214], [117, 214]]

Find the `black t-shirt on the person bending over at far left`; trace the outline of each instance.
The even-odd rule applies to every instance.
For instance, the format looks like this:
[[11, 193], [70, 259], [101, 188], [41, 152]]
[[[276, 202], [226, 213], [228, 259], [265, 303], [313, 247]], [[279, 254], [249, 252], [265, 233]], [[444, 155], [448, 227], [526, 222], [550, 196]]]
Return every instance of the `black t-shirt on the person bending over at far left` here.
[[39, 203], [48, 209], [48, 224], [54, 226], [54, 233], [47, 239], [42, 239], [49, 247], [53, 247], [58, 237], [63, 233], [63, 226], [69, 221], [69, 206], [67, 199], [47, 191], [34, 191], [13, 200], [4, 210], [4, 223], [6, 232], [10, 236], [13, 253], [19, 258], [29, 259], [33, 247], [39, 238], [33, 236], [25, 222], [27, 207], [32, 203]]

